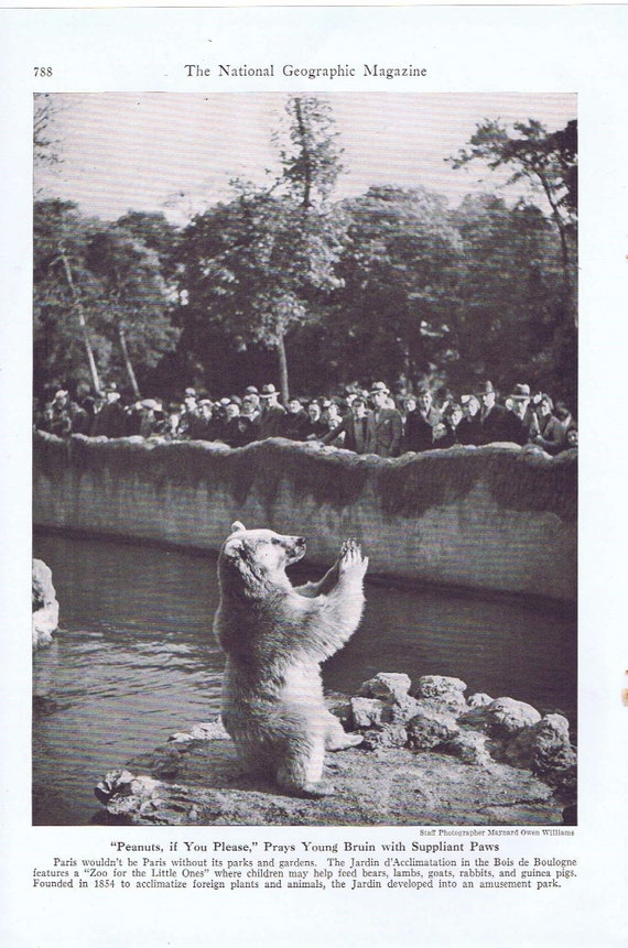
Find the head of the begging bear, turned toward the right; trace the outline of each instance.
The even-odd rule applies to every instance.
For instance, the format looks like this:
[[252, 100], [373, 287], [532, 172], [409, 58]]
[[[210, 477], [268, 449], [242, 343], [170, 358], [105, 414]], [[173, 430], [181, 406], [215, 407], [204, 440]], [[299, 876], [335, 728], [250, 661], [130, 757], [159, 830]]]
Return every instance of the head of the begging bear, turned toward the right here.
[[273, 530], [247, 530], [236, 521], [218, 557], [223, 588], [239, 587], [255, 595], [260, 587], [290, 586], [285, 567], [305, 554], [302, 536], [283, 536]]

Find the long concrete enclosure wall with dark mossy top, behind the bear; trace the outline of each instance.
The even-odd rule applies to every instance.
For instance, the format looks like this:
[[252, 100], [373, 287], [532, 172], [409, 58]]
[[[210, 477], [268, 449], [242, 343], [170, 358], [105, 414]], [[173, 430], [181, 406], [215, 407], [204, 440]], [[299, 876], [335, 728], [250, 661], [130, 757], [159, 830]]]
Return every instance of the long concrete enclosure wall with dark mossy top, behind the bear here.
[[217, 551], [236, 519], [307, 538], [331, 564], [346, 536], [371, 574], [575, 599], [577, 454], [452, 448], [397, 460], [283, 439], [35, 434], [35, 525]]

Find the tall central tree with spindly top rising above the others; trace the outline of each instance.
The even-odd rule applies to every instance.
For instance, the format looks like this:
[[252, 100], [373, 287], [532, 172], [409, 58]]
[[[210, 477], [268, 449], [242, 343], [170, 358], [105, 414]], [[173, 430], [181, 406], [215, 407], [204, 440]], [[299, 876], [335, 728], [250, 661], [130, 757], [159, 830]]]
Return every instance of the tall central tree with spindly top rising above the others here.
[[335, 268], [343, 216], [326, 198], [340, 171], [329, 109], [313, 98], [289, 100], [289, 139], [281, 176], [271, 188], [235, 182], [235, 198], [197, 216], [182, 239], [186, 322], [219, 325], [236, 348], [262, 345], [279, 359], [289, 397], [285, 340], [320, 318], [339, 285]]

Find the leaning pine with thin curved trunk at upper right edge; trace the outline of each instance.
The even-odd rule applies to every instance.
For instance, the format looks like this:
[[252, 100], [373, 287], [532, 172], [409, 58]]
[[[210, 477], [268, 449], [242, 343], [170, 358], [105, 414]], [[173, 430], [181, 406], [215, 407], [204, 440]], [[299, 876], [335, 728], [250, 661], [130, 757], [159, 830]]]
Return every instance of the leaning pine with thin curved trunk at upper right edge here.
[[569, 308], [576, 318], [573, 298], [575, 286], [575, 241], [577, 221], [577, 123], [550, 133], [541, 122], [515, 122], [515, 134], [499, 123], [485, 121], [477, 126], [469, 149], [461, 149], [448, 159], [459, 168], [475, 160], [485, 161], [489, 168], [513, 168], [510, 183], [526, 178], [541, 188], [561, 241], [563, 282]]

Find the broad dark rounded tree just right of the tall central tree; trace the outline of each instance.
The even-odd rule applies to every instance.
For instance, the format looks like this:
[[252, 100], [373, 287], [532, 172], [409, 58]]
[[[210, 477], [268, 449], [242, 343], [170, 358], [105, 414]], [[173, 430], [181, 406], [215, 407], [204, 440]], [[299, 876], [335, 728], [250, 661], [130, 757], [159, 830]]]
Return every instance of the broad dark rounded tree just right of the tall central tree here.
[[[348, 218], [326, 350], [351, 377], [418, 379], [448, 345], [459, 239], [446, 201], [425, 188], [371, 187]], [[345, 380], [346, 381], [346, 380]]]

